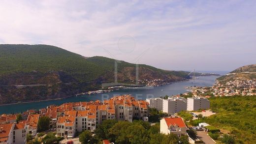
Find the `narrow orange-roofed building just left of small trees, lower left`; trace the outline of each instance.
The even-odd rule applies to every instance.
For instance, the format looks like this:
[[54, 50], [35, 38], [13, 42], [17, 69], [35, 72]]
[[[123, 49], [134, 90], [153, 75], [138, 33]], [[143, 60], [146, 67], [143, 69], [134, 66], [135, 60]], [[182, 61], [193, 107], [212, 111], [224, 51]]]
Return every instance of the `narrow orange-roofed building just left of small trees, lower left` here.
[[37, 132], [39, 114], [29, 115], [27, 119], [27, 131], [29, 134], [35, 135]]

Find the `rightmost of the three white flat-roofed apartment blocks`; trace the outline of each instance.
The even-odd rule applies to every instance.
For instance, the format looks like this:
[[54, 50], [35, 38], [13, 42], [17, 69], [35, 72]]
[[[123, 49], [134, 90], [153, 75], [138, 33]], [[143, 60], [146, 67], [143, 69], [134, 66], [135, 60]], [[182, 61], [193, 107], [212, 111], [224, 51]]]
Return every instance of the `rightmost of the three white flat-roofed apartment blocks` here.
[[199, 109], [209, 109], [210, 101], [202, 97], [189, 97], [187, 99], [187, 111], [197, 111]]

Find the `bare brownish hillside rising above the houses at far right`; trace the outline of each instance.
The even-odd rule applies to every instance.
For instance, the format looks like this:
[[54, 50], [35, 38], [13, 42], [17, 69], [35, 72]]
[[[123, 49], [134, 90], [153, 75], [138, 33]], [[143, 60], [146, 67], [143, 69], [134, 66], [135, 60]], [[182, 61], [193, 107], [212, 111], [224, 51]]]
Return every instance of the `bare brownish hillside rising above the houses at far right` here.
[[221, 83], [225, 83], [234, 79], [256, 80], [256, 64], [239, 67], [217, 80]]

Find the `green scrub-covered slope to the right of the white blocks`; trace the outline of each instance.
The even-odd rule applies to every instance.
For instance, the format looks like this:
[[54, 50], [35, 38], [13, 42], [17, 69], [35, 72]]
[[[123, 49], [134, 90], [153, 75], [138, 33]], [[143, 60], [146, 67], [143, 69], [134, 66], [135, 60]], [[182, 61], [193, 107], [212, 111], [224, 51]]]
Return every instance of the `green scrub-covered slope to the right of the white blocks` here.
[[[211, 109], [217, 114], [198, 122], [212, 125], [209, 127], [212, 130], [209, 133], [212, 138], [225, 144], [256, 142], [256, 96], [214, 97], [210, 102]], [[218, 129], [229, 135], [224, 135], [221, 139]]]

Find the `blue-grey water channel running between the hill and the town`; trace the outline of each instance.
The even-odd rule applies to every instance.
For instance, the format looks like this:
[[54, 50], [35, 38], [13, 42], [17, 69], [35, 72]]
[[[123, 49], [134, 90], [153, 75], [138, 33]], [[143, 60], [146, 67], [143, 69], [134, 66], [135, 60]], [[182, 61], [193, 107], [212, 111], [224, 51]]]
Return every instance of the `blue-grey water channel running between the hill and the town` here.
[[41, 109], [46, 108], [49, 105], [61, 105], [67, 102], [80, 102], [80, 101], [95, 101], [108, 99], [113, 97], [113, 95], [131, 94], [136, 97], [136, 99], [146, 99], [147, 97], [160, 97], [165, 95], [176, 95], [180, 93], [187, 92], [186, 87], [188, 86], [212, 86], [215, 83], [217, 76], [206, 76], [199, 77], [199, 79], [190, 80], [186, 82], [178, 82], [170, 85], [158, 86], [149, 89], [121, 89], [112, 91], [109, 93], [102, 94], [86, 94], [81, 96], [74, 96], [64, 99], [41, 101], [41, 102], [31, 102], [31, 103], [19, 103], [12, 105], [0, 106], [1, 114], [11, 114], [24, 112], [29, 109]]

